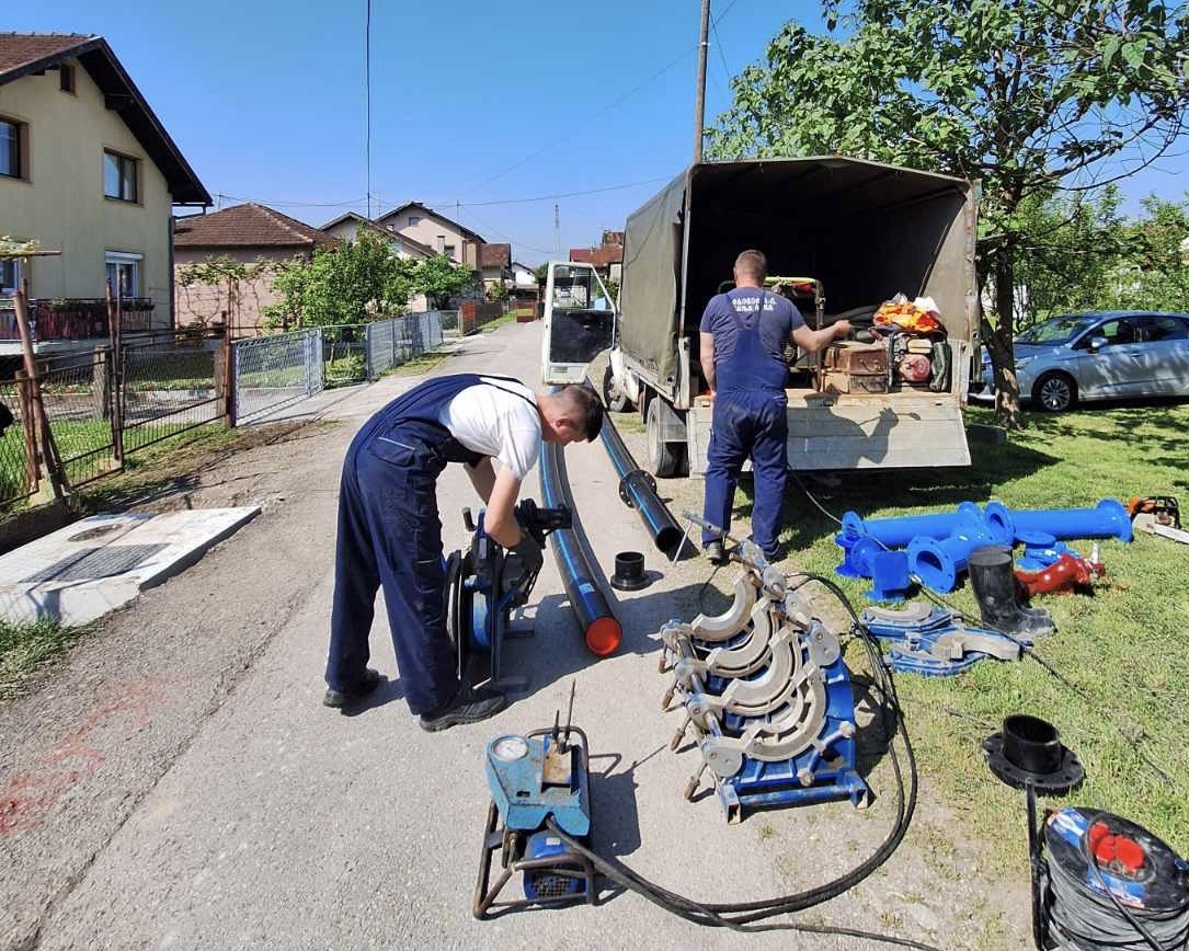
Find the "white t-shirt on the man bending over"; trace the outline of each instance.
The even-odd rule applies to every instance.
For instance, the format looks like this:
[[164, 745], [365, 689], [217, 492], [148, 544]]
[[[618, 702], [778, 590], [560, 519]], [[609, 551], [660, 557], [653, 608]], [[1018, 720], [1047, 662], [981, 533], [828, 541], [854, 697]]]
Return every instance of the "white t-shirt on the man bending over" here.
[[492, 455], [523, 481], [541, 454], [541, 416], [533, 391], [520, 383], [483, 377], [438, 417], [472, 452]]

